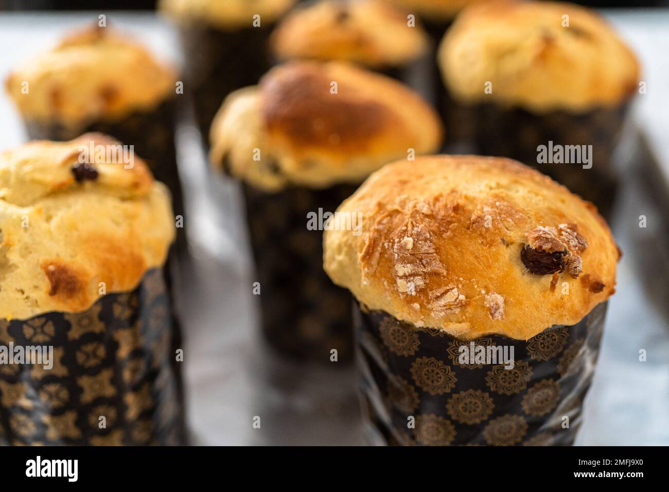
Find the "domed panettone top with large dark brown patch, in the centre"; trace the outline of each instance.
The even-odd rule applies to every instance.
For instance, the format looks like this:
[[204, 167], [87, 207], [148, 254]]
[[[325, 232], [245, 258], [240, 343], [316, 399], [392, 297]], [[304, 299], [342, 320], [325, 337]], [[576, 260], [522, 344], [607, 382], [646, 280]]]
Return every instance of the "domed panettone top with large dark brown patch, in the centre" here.
[[210, 158], [267, 191], [360, 183], [383, 164], [436, 151], [436, 112], [391, 78], [344, 62], [289, 62], [237, 90], [211, 125]]

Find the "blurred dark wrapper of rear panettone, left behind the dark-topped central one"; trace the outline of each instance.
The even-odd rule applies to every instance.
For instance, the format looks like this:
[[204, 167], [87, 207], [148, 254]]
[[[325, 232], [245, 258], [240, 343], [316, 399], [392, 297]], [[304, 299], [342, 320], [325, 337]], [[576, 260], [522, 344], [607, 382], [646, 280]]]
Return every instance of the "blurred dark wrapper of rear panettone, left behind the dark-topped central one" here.
[[193, 96], [197, 124], [208, 143], [211, 120], [225, 96], [258, 84], [270, 69], [268, 37], [272, 25], [236, 31], [183, 25], [179, 31], [185, 51], [185, 92]]

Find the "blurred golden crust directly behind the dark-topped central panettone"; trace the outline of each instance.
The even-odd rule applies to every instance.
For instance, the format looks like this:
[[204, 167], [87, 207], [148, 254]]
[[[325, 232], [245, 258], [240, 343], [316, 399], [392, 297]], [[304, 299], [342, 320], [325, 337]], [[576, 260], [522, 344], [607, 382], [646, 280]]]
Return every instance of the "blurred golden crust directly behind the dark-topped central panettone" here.
[[427, 35], [420, 25], [381, 0], [324, 0], [295, 9], [272, 33], [279, 60], [345, 60], [371, 68], [399, 66], [423, 56]]

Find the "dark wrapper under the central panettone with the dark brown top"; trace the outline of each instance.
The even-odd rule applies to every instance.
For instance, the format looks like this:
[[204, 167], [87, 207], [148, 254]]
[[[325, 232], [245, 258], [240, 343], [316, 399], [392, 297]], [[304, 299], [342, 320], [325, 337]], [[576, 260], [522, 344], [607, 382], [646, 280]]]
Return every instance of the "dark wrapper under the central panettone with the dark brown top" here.
[[337, 349], [339, 361], [353, 359], [351, 294], [324, 272], [322, 230], [307, 229], [307, 214], [334, 212], [355, 189], [266, 193], [244, 185], [262, 333], [283, 355], [328, 363], [330, 350]]

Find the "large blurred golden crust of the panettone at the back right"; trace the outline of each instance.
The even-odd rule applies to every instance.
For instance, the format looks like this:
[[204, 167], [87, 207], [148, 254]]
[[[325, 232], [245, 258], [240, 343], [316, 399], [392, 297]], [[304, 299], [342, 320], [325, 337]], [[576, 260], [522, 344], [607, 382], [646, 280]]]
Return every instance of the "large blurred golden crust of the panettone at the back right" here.
[[608, 23], [570, 3], [504, 0], [467, 7], [438, 58], [459, 100], [534, 112], [616, 106], [630, 98], [639, 78], [636, 56]]

